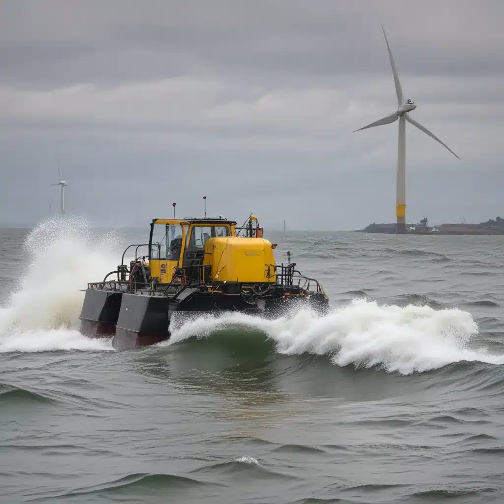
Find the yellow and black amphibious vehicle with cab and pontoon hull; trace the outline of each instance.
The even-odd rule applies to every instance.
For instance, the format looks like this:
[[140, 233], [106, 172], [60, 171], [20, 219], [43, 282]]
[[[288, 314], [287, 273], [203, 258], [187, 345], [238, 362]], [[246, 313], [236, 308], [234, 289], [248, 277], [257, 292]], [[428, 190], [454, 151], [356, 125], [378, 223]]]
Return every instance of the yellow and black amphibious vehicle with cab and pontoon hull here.
[[[128, 267], [124, 256], [132, 247]], [[142, 247], [147, 256], [139, 256]], [[88, 284], [81, 333], [112, 336], [114, 348], [134, 348], [168, 339], [175, 311], [277, 317], [303, 306], [326, 312], [329, 299], [320, 283], [301, 275], [295, 263], [277, 265], [275, 247], [254, 215], [239, 229], [222, 217], [154, 219], [148, 244], [128, 246], [116, 271]]]

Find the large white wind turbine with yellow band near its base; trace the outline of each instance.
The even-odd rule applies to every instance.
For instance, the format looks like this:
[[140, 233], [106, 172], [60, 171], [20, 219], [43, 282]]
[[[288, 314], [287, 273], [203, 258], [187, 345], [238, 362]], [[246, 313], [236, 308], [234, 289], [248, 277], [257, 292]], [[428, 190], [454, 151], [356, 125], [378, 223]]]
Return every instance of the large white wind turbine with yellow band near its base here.
[[394, 58], [392, 57], [392, 51], [390, 50], [389, 41], [387, 40], [387, 35], [385, 34], [385, 29], [382, 24], [383, 35], [385, 37], [385, 42], [387, 43], [387, 49], [389, 50], [390, 65], [392, 67], [392, 73], [394, 74], [394, 82], [396, 85], [397, 94], [397, 110], [379, 119], [377, 121], [371, 122], [364, 128], [360, 128], [354, 131], [361, 131], [367, 128], [373, 128], [374, 126], [381, 126], [382, 124], [389, 124], [389, 122], [394, 122], [399, 118], [399, 145], [397, 149], [397, 186], [396, 186], [396, 218], [397, 226], [396, 233], [406, 232], [406, 121], [416, 126], [420, 131], [427, 134], [429, 137], [433, 138], [441, 145], [444, 145], [456, 158], [460, 159], [455, 152], [453, 152], [448, 145], [440, 141], [433, 133], [431, 133], [427, 128], [424, 128], [419, 122], [412, 119], [408, 112], [411, 112], [416, 108], [416, 105], [411, 100], [404, 101], [403, 90], [401, 88], [401, 83], [399, 82], [399, 76], [397, 75], [396, 66], [394, 65]]

